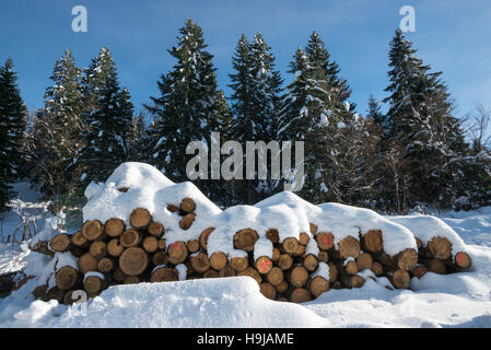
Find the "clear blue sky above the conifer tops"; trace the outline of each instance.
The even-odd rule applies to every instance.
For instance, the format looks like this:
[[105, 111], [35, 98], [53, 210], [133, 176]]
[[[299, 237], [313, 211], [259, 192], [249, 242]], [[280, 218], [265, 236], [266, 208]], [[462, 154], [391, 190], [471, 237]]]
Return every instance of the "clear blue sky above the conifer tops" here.
[[[87, 9], [87, 33], [73, 33], [71, 10]], [[204, 32], [225, 90], [231, 57], [242, 33], [262, 33], [277, 57], [285, 83], [288, 65], [312, 31], [319, 32], [353, 90], [351, 102], [366, 112], [370, 94], [386, 96], [388, 43], [399, 26], [402, 5], [416, 10], [416, 32], [406, 33], [418, 55], [443, 71], [461, 116], [476, 104], [491, 107], [491, 1], [489, 0], [168, 0], [168, 1], [1, 1], [0, 60], [12, 57], [22, 96], [31, 109], [43, 95], [57, 58], [66, 48], [86, 67], [107, 45], [121, 86], [137, 109], [157, 95], [156, 81], [175, 63], [167, 49], [186, 18]]]

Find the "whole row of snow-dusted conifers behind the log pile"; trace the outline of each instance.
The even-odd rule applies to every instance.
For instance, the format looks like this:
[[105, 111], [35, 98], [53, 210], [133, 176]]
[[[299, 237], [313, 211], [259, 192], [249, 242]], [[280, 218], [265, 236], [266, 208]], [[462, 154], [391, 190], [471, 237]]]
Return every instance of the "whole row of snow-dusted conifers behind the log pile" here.
[[[22, 103], [8, 60], [0, 69], [0, 202], [11, 198], [10, 184], [20, 176], [60, 206], [80, 202], [91, 180], [105, 180], [126, 161], [188, 180], [187, 144], [210, 148], [219, 141], [211, 133], [220, 131], [221, 143], [235, 140], [244, 149], [246, 141], [304, 141], [300, 195], [313, 202], [399, 213], [416, 206], [491, 203], [491, 153], [483, 138], [489, 113], [481, 108], [480, 131], [466, 133], [442, 73], [416, 56], [400, 31], [390, 42], [386, 97], [371, 97], [366, 116], [355, 112], [351, 89], [315, 31], [294, 52], [285, 89], [261, 34], [250, 40], [243, 35], [232, 57], [229, 97], [196, 23], [186, 20], [168, 52], [176, 63], [139, 114], [107, 47], [86, 69], [67, 50], [34, 115]], [[244, 179], [195, 183], [222, 206], [255, 203], [283, 189], [270, 172], [267, 179], [245, 179], [245, 166], [243, 172]]]

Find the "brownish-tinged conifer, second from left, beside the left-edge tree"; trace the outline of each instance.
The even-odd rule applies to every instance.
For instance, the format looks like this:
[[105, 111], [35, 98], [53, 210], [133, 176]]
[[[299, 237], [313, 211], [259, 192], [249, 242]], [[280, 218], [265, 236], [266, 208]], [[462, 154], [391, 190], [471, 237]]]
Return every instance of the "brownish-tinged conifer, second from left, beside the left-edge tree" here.
[[66, 200], [80, 175], [68, 166], [84, 141], [82, 70], [70, 50], [57, 60], [50, 79], [54, 84], [46, 89], [45, 107], [31, 131], [36, 136], [31, 138], [30, 178], [46, 197]]

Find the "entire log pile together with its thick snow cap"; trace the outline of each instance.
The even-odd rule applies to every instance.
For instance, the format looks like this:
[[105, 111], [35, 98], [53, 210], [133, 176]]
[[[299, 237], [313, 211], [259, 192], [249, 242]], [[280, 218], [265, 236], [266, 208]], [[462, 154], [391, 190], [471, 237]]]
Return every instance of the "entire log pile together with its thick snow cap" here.
[[71, 303], [82, 289], [95, 296], [122, 283], [249, 276], [269, 299], [305, 302], [330, 288], [360, 288], [367, 277], [408, 289], [411, 277], [471, 264], [455, 233], [432, 235], [441, 222], [412, 230], [411, 218], [314, 206], [292, 192], [222, 211], [192, 184], [142, 163], [121, 164], [85, 196], [80, 231], [31, 243], [52, 256], [36, 298]]

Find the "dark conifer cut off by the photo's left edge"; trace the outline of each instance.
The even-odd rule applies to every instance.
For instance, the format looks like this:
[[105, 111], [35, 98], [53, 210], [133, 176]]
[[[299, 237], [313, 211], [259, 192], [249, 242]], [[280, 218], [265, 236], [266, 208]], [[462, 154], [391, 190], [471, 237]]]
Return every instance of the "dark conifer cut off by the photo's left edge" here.
[[17, 179], [27, 110], [22, 101], [9, 58], [0, 67], [0, 211], [14, 196], [12, 183]]

